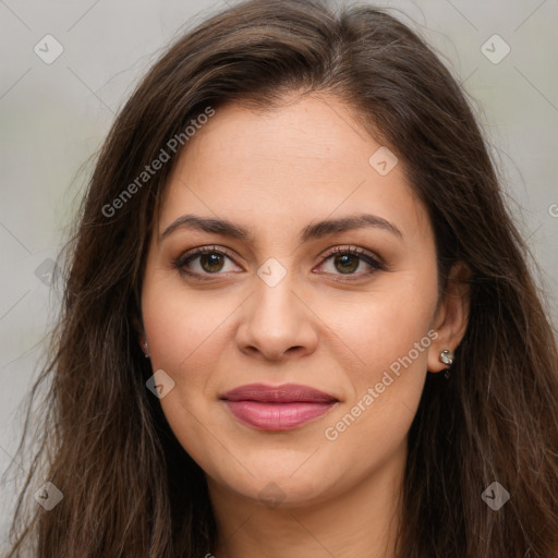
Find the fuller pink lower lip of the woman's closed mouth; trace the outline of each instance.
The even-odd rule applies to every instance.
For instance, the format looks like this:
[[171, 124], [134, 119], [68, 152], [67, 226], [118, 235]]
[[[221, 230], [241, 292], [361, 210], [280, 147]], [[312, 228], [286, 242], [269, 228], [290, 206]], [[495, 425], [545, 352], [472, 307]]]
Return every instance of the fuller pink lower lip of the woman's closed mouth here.
[[226, 401], [231, 413], [245, 424], [264, 430], [289, 430], [326, 414], [337, 401], [329, 403], [262, 403]]

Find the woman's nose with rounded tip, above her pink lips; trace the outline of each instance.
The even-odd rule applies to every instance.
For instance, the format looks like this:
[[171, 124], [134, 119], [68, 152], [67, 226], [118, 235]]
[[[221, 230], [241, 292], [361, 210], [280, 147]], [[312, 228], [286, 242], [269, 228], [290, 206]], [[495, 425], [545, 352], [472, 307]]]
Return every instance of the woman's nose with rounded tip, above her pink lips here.
[[255, 292], [242, 305], [242, 322], [236, 330], [240, 351], [279, 361], [316, 350], [317, 318], [293, 287], [289, 274], [275, 287], [255, 278]]

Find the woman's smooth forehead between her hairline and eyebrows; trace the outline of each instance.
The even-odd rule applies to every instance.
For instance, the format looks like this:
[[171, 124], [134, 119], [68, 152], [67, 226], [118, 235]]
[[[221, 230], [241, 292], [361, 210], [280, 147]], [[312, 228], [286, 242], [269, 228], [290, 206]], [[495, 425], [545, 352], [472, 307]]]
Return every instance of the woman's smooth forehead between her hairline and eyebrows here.
[[402, 163], [387, 173], [375, 166], [379, 157], [389, 169], [389, 153], [336, 97], [307, 96], [265, 112], [229, 104], [180, 154], [159, 231], [184, 213], [234, 216], [264, 232], [357, 210], [397, 220], [408, 235], [428, 234]]

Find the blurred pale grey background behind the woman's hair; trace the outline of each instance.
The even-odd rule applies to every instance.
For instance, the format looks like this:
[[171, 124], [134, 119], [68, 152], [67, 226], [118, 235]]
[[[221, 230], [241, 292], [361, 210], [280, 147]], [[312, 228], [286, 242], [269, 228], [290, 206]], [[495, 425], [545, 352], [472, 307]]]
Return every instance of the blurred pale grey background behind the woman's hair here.
[[[0, 474], [12, 462], [22, 401], [43, 362], [58, 304], [52, 263], [90, 157], [165, 46], [227, 3], [0, 0]], [[356, 2], [336, 2], [343, 3]], [[558, 324], [558, 1], [369, 3], [418, 31], [474, 99]], [[8, 478], [0, 548], [13, 493]]]

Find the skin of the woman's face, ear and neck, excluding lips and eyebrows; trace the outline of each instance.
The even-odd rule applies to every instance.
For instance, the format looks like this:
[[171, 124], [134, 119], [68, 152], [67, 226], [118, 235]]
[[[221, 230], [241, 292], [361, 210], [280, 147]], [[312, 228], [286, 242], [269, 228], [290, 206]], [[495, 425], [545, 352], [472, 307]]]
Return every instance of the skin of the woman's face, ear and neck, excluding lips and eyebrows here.
[[[141, 341], [154, 371], [174, 381], [160, 404], [206, 473], [217, 558], [393, 556], [408, 432], [427, 371], [446, 369], [440, 351], [464, 333], [468, 293], [456, 269], [438, 296], [426, 210], [401, 162], [386, 175], [368, 163], [379, 147], [336, 97], [286, 98], [265, 113], [228, 105], [190, 140], [168, 183], [147, 255]], [[390, 221], [401, 238], [368, 227], [299, 239], [311, 222], [359, 213]], [[193, 228], [161, 240], [184, 214], [227, 218], [254, 240]], [[181, 276], [174, 260], [198, 246], [233, 259], [197, 257], [187, 266], [208, 280]], [[363, 248], [386, 268], [324, 262], [336, 246]], [[257, 275], [271, 257], [286, 271], [275, 287]], [[429, 347], [328, 439], [326, 428], [433, 330]], [[339, 403], [294, 429], [263, 432], [219, 400], [251, 383], [303, 384]]]

